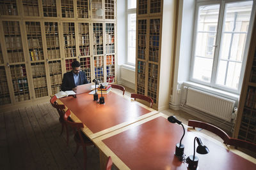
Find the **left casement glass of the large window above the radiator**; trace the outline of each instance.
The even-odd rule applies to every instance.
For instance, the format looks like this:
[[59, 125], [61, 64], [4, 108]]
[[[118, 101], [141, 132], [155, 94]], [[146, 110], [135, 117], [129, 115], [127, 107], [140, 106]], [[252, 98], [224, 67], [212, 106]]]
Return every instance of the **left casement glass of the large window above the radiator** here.
[[193, 78], [208, 83], [211, 82], [219, 8], [219, 4], [198, 8]]

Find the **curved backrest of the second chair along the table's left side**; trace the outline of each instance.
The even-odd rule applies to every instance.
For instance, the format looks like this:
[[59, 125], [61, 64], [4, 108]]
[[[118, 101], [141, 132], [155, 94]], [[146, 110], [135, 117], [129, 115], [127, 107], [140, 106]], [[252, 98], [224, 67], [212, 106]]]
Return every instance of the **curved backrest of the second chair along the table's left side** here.
[[69, 125], [69, 126], [72, 128], [74, 134], [76, 134], [76, 132], [78, 132], [79, 138], [80, 138], [81, 141], [83, 141], [83, 143], [84, 143], [84, 139], [83, 139], [83, 136], [82, 136], [82, 134], [81, 134], [81, 128], [83, 128], [84, 125], [83, 125], [83, 123], [70, 122], [70, 121], [68, 120], [68, 117], [70, 116], [70, 114], [71, 114], [71, 112], [70, 112], [70, 110], [68, 109], [68, 110], [65, 112], [65, 114], [64, 114], [64, 117], [63, 117], [63, 118], [64, 118], [64, 121], [65, 121], [65, 123], [66, 123], [67, 125]]

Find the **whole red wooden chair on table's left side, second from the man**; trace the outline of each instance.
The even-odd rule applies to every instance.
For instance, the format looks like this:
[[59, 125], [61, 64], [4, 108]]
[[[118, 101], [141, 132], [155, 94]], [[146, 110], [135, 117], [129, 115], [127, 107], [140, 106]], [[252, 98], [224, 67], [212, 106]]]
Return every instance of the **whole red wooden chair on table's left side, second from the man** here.
[[83, 147], [83, 152], [84, 152], [84, 169], [86, 169], [86, 160], [87, 160], [86, 146], [93, 145], [93, 143], [81, 131], [81, 128], [84, 127], [83, 123], [70, 122], [68, 120], [69, 116], [70, 116], [70, 110], [68, 109], [65, 112], [64, 121], [66, 122], [67, 125], [69, 125], [72, 128], [72, 130], [74, 132], [74, 141], [76, 141], [76, 152], [74, 153], [74, 155], [76, 155], [79, 147], [82, 146]]

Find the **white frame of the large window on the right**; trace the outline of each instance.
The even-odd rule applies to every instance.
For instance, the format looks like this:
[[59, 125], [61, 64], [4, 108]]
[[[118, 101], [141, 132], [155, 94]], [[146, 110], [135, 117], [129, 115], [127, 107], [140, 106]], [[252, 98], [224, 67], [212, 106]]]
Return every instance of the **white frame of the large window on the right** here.
[[[252, 25], [253, 25], [253, 20], [255, 20], [255, 4], [256, 0], [253, 1], [253, 6], [252, 6], [252, 13], [250, 16], [250, 22], [248, 25], [248, 33], [246, 37], [246, 42], [245, 42], [245, 48], [244, 48], [244, 53], [243, 53], [243, 61], [242, 61], [242, 66], [241, 66], [241, 73], [239, 77], [239, 85], [237, 89], [231, 89], [228, 87], [225, 87], [223, 85], [218, 85], [216, 83], [217, 81], [217, 72], [218, 72], [218, 62], [220, 61], [219, 55], [220, 55], [220, 45], [222, 43], [221, 39], [221, 34], [223, 31], [223, 27], [225, 24], [223, 24], [223, 21], [225, 20], [225, 4], [227, 3], [234, 3], [234, 2], [241, 2], [241, 1], [250, 1], [250, 0], [218, 0], [218, 1], [202, 1], [202, 0], [197, 0], [195, 4], [195, 22], [193, 26], [193, 40], [192, 40], [192, 50], [191, 50], [191, 62], [190, 62], [190, 73], [189, 73], [189, 81], [192, 81], [194, 83], [198, 83], [200, 85], [206, 85], [208, 87], [214, 88], [214, 89], [219, 89], [223, 90], [226, 92], [231, 92], [233, 94], [240, 94], [241, 88], [243, 86], [243, 78], [244, 78], [244, 71], [246, 67], [246, 60], [247, 60], [247, 55], [248, 55], [248, 49], [250, 45], [250, 39], [252, 36]], [[217, 24], [217, 29], [216, 29], [216, 39], [215, 39], [215, 48], [214, 48], [214, 57], [213, 57], [213, 62], [212, 62], [212, 73], [211, 73], [211, 81], [205, 82], [205, 81], [200, 81], [195, 78], [193, 78], [193, 68], [195, 64], [195, 51], [196, 51], [196, 36], [197, 36], [197, 25], [198, 25], [198, 9], [200, 6], [204, 5], [214, 5], [214, 4], [220, 4], [220, 9], [219, 9], [219, 16], [218, 16], [218, 24]]]

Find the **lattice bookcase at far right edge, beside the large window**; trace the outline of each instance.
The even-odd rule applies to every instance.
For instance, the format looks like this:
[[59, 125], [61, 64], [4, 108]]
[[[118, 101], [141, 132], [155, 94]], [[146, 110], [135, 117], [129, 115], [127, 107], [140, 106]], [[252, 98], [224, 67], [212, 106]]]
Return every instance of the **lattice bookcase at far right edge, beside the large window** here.
[[243, 87], [237, 110], [236, 126], [233, 136], [256, 143], [256, 22], [244, 73]]

